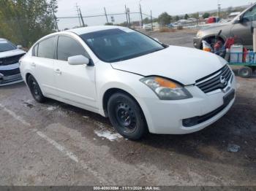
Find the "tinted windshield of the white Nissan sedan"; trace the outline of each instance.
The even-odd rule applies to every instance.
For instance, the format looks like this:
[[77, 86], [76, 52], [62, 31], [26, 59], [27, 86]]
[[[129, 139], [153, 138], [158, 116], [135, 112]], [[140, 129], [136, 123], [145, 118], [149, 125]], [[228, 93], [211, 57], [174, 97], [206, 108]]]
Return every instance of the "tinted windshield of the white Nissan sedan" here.
[[105, 62], [124, 61], [165, 48], [159, 42], [129, 28], [97, 31], [80, 37]]

